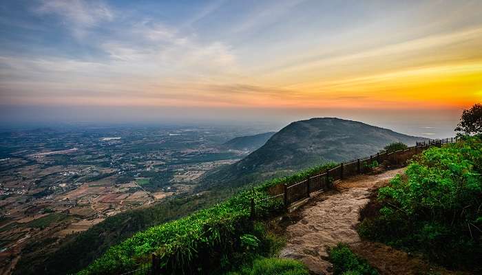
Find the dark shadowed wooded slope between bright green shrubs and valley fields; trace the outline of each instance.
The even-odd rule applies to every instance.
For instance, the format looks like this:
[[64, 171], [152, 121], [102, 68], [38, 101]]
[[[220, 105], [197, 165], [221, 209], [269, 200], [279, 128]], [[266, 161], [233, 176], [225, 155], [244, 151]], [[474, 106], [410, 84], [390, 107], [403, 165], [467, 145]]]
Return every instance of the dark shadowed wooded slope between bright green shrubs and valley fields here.
[[[173, 197], [149, 208], [139, 208], [108, 217], [89, 230], [74, 234], [56, 252], [24, 254], [14, 274], [72, 274], [100, 257], [111, 246], [121, 243], [138, 231], [212, 206], [233, 194], [233, 190], [208, 192], [200, 196]], [[27, 253], [29, 251], [25, 251]]]

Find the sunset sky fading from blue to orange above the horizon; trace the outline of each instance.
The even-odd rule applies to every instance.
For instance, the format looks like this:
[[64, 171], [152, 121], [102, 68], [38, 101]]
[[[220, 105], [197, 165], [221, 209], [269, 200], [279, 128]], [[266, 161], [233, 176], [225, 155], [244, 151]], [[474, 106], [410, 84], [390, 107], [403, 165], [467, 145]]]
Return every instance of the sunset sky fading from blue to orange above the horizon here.
[[[0, 124], [337, 116], [448, 135], [482, 1], [1, 1]], [[438, 129], [438, 130], [437, 130]]]

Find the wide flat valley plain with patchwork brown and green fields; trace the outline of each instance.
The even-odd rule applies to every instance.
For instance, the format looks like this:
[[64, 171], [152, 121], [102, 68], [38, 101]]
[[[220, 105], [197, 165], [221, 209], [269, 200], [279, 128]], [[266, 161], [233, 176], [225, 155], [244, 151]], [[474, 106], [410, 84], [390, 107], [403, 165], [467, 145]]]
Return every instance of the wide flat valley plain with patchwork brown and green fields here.
[[83, 126], [0, 133], [0, 274], [13, 267], [7, 263], [52, 252], [108, 217], [190, 194], [204, 173], [244, 156], [223, 142], [255, 131]]

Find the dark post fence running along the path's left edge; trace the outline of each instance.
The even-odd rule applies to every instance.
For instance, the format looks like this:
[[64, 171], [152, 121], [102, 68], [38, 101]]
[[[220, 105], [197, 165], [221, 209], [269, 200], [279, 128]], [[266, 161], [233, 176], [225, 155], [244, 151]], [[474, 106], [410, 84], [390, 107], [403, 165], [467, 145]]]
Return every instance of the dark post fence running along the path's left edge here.
[[270, 195], [262, 199], [251, 199], [251, 217], [261, 217], [269, 214], [268, 210], [288, 210], [293, 203], [311, 197], [313, 192], [328, 190], [333, 181], [344, 179], [353, 175], [367, 173], [373, 168], [376, 161], [378, 164], [388, 162], [392, 165], [406, 164], [414, 155], [421, 153], [430, 146], [457, 142], [457, 137], [449, 137], [441, 140], [428, 140], [417, 142], [415, 146], [394, 152], [381, 152], [362, 159], [353, 159], [350, 162], [341, 163], [335, 168], [326, 170], [324, 173], [308, 177], [295, 184], [282, 184], [269, 189]]

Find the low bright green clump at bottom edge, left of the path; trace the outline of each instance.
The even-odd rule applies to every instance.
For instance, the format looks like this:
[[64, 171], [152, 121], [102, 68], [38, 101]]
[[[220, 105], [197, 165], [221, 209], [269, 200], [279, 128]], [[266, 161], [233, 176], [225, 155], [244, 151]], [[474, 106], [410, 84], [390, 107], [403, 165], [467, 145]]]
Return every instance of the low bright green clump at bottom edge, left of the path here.
[[279, 258], [256, 259], [250, 267], [227, 275], [308, 275], [308, 270], [298, 261]]

